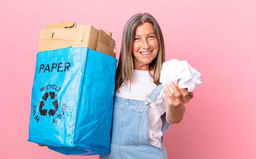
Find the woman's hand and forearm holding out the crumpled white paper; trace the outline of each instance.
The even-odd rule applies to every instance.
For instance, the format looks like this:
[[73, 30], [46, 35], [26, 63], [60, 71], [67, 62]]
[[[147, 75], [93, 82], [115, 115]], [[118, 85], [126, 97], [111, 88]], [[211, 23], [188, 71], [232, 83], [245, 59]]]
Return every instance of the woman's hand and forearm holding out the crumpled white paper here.
[[183, 115], [186, 111], [184, 103], [188, 103], [193, 98], [193, 92], [188, 92], [186, 88], [179, 87], [179, 83], [176, 85], [170, 82], [170, 86], [173, 93], [169, 90], [167, 85], [164, 85], [164, 102], [166, 106], [166, 120], [168, 123], [179, 123], [183, 119]]

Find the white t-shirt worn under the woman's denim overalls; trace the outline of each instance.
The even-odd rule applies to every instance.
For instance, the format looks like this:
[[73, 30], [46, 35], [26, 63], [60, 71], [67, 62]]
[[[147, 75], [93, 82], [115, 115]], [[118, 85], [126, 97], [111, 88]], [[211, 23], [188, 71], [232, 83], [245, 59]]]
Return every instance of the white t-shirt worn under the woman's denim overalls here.
[[[120, 87], [120, 92], [115, 92], [115, 96], [127, 99], [144, 100], [147, 95], [156, 87], [153, 78], [148, 71], [133, 70], [134, 78], [128, 87]], [[130, 89], [130, 90], [129, 90]], [[164, 91], [162, 90], [154, 102], [150, 102], [148, 112], [148, 141], [151, 145], [158, 148], [162, 147], [162, 119], [161, 116], [165, 112]]]

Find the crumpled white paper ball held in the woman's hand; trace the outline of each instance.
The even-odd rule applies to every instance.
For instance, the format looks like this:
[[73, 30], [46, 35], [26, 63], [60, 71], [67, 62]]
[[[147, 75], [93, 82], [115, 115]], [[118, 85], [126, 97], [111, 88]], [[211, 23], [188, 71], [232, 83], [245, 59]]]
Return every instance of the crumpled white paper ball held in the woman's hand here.
[[170, 82], [175, 84], [179, 81], [180, 88], [187, 88], [193, 92], [196, 86], [202, 84], [201, 74], [189, 65], [187, 61], [177, 59], [168, 60], [163, 63], [159, 82], [168, 85], [171, 92]]

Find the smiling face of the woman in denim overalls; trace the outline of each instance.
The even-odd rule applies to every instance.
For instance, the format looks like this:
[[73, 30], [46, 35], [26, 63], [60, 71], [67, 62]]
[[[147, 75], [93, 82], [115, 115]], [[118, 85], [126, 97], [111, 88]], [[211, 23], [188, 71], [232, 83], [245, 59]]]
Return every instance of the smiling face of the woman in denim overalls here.
[[132, 46], [134, 68], [148, 70], [149, 64], [155, 59], [159, 51], [159, 44], [153, 25], [145, 22], [135, 29], [135, 39]]

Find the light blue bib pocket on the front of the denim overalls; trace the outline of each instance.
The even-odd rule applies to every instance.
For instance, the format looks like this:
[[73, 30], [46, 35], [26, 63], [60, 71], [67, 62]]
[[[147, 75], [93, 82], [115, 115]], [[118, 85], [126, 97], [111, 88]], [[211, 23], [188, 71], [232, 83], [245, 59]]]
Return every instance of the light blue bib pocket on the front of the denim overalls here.
[[114, 106], [111, 143], [119, 146], [138, 145], [143, 110]]

